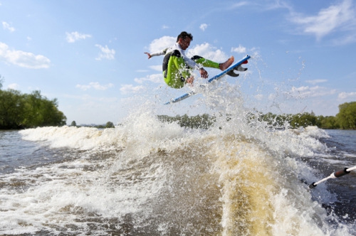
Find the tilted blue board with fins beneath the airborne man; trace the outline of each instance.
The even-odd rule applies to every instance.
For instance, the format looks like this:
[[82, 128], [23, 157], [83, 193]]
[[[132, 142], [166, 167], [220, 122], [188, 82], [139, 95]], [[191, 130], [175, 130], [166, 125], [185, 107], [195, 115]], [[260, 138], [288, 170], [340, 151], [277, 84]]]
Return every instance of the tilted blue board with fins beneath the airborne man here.
[[[226, 70], [221, 71], [220, 74], [215, 75], [214, 77], [212, 77], [210, 80], [208, 80], [208, 82], [206, 83], [206, 85], [209, 84], [209, 83], [211, 83], [211, 82], [213, 82], [213, 81], [215, 81], [215, 80], [220, 80], [220, 79], [221, 79], [222, 77], [224, 77], [225, 75], [230, 75], [230, 76], [232, 76], [232, 77], [238, 77], [239, 74], [238, 74], [238, 73], [235, 73], [235, 71], [246, 71], [247, 68], [243, 68], [243, 67], [241, 66], [241, 64], [246, 64], [246, 63], [247, 63], [247, 60], [250, 59], [250, 58], [251, 58], [251, 56], [246, 55], [246, 57], [243, 58], [243, 59], [241, 59], [241, 60], [239, 60], [239, 62], [237, 62], [237, 63], [231, 65], [231, 66], [230, 66], [229, 68], [227, 68]], [[206, 87], [206, 85], [200, 85], [200, 86], [201, 86], [201, 87]], [[164, 104], [167, 105], [167, 104], [176, 103], [176, 102], [185, 100], [186, 98], [188, 98], [188, 97], [190, 97], [190, 96], [192, 96], [192, 95], [195, 95], [195, 94], [197, 94], [197, 92], [194, 91], [194, 90], [192, 90], [191, 92], [188, 92], [188, 93], [186, 93], [185, 95], [182, 95], [182, 96], [179, 96], [179, 97], [177, 97], [177, 98], [174, 98], [174, 99], [172, 99], [172, 100], [170, 100], [169, 102], [166, 102], [166, 103], [164, 103]]]

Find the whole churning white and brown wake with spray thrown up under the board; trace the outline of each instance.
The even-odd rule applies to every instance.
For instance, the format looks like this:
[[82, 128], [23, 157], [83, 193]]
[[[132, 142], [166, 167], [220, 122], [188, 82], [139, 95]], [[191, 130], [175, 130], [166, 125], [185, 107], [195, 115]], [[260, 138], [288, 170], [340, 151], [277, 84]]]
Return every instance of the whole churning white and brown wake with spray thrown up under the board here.
[[[273, 129], [251, 119], [256, 111], [246, 106], [240, 86], [221, 80], [201, 91], [199, 101], [216, 116], [207, 130], [159, 122], [157, 114], [174, 107], [162, 108], [153, 97], [137, 103], [115, 129], [11, 133], [23, 152], [41, 154], [20, 154], [24, 161], [1, 172], [0, 232], [356, 235], [356, 214], [333, 210], [337, 191], [327, 183], [310, 191], [305, 183], [333, 172], [315, 164], [340, 156], [327, 141], [331, 136], [316, 127]], [[352, 155], [345, 161], [356, 164]]]

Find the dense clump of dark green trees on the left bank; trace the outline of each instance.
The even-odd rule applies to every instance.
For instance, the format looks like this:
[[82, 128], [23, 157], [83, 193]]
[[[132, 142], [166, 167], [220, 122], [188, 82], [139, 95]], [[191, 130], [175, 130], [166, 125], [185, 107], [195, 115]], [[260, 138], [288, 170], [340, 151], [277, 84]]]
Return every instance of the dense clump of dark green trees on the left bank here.
[[23, 94], [18, 90], [1, 90], [0, 76], [0, 129], [26, 129], [63, 126], [66, 116], [58, 110], [58, 100], [48, 100], [41, 91]]

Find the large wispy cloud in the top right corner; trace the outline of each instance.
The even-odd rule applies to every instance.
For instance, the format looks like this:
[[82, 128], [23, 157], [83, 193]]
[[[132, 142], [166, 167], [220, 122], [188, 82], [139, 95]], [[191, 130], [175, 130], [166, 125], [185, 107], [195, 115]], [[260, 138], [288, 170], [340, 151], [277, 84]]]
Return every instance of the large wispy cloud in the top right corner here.
[[314, 34], [319, 40], [333, 31], [353, 30], [356, 23], [352, 0], [344, 0], [339, 5], [321, 9], [316, 16], [302, 16], [292, 13], [290, 21], [297, 23], [303, 33]]

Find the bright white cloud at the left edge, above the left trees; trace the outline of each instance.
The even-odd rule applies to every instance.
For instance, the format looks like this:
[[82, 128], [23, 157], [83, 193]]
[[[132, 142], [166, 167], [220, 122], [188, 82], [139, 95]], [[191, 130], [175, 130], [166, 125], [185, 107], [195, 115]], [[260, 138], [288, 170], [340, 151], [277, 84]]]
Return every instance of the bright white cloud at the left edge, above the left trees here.
[[51, 63], [51, 60], [43, 55], [34, 55], [33, 53], [26, 53], [22, 50], [9, 50], [9, 46], [1, 42], [0, 60], [31, 69], [48, 68]]

